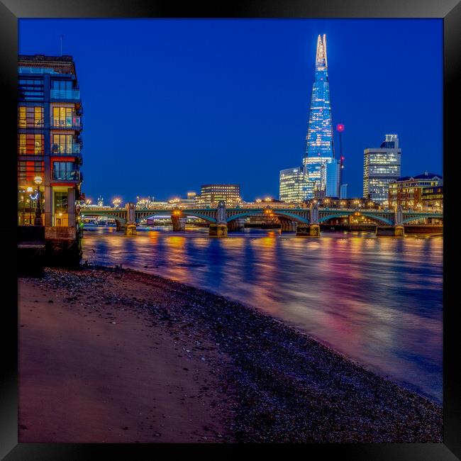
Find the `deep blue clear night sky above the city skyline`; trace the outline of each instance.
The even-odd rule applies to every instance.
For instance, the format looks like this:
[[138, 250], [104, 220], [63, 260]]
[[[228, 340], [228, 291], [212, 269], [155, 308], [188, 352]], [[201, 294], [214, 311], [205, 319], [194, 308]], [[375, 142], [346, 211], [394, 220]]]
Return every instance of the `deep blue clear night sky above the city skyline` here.
[[249, 201], [277, 198], [279, 170], [301, 163], [319, 33], [348, 196], [362, 196], [363, 150], [386, 133], [399, 135], [402, 175], [441, 174], [438, 19], [21, 19], [19, 52], [60, 55], [64, 35], [87, 198], [163, 200], [229, 182]]

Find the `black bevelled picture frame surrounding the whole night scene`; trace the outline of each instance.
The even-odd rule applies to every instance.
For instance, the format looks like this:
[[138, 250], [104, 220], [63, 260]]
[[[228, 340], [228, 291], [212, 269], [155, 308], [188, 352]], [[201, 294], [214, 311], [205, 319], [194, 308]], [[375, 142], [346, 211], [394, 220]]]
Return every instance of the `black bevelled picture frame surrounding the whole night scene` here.
[[[7, 290], [2, 303], [4, 329], [4, 367], [1, 380], [0, 455], [6, 460], [87, 460], [108, 455], [116, 458], [152, 458], [160, 445], [77, 445], [18, 443], [18, 366], [17, 366], [17, 279], [16, 279], [16, 111], [18, 18], [443, 18], [444, 91], [443, 91], [443, 176], [445, 189], [444, 256], [443, 256], [443, 414], [444, 443], [433, 444], [312, 444], [303, 448], [303, 457], [318, 459], [333, 456], [347, 460], [456, 460], [461, 458], [461, 406], [459, 379], [459, 326], [456, 313], [460, 301], [455, 296], [455, 230], [452, 218], [457, 148], [457, 104], [460, 97], [456, 85], [461, 62], [461, 4], [458, 0], [292, 0], [205, 2], [178, 4], [175, 1], [148, 0], [0, 0], [0, 91], [3, 111], [9, 114], [0, 124], [2, 133], [4, 213], [2, 214], [3, 281]], [[84, 31], [82, 31], [84, 33]], [[403, 77], [404, 78], [404, 77]], [[411, 82], [405, 82], [411, 84]], [[423, 133], [421, 134], [423, 135]], [[11, 182], [11, 184], [9, 184]], [[10, 297], [11, 296], [11, 297]], [[6, 299], [9, 299], [7, 302]], [[457, 347], [458, 345], [458, 347]], [[163, 445], [169, 455], [184, 445]], [[194, 456], [203, 445], [187, 445], [184, 455]], [[208, 445], [218, 455], [233, 455], [237, 445]], [[260, 448], [258, 447], [258, 452]], [[272, 448], [271, 448], [272, 450]], [[284, 450], [284, 448], [282, 448]], [[274, 453], [276, 455], [276, 453]]]

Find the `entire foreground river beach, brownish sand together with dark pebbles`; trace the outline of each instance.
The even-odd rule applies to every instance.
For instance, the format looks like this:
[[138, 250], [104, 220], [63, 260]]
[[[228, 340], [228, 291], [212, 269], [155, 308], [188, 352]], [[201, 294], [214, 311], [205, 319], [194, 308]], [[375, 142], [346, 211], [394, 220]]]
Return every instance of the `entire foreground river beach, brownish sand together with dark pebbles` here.
[[442, 441], [440, 406], [207, 291], [111, 269], [18, 291], [20, 443]]

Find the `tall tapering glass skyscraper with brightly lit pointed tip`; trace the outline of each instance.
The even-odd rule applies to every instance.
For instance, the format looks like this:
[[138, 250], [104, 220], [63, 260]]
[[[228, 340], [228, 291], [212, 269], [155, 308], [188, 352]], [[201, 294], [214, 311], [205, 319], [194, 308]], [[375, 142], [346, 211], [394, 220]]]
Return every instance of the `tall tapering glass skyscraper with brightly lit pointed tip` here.
[[328, 61], [326, 35], [318, 35], [316, 72], [312, 87], [309, 126], [306, 137], [306, 155], [303, 160], [313, 182], [309, 187], [318, 196], [339, 196], [340, 165], [333, 149], [333, 122], [331, 118], [330, 87], [328, 84]]

